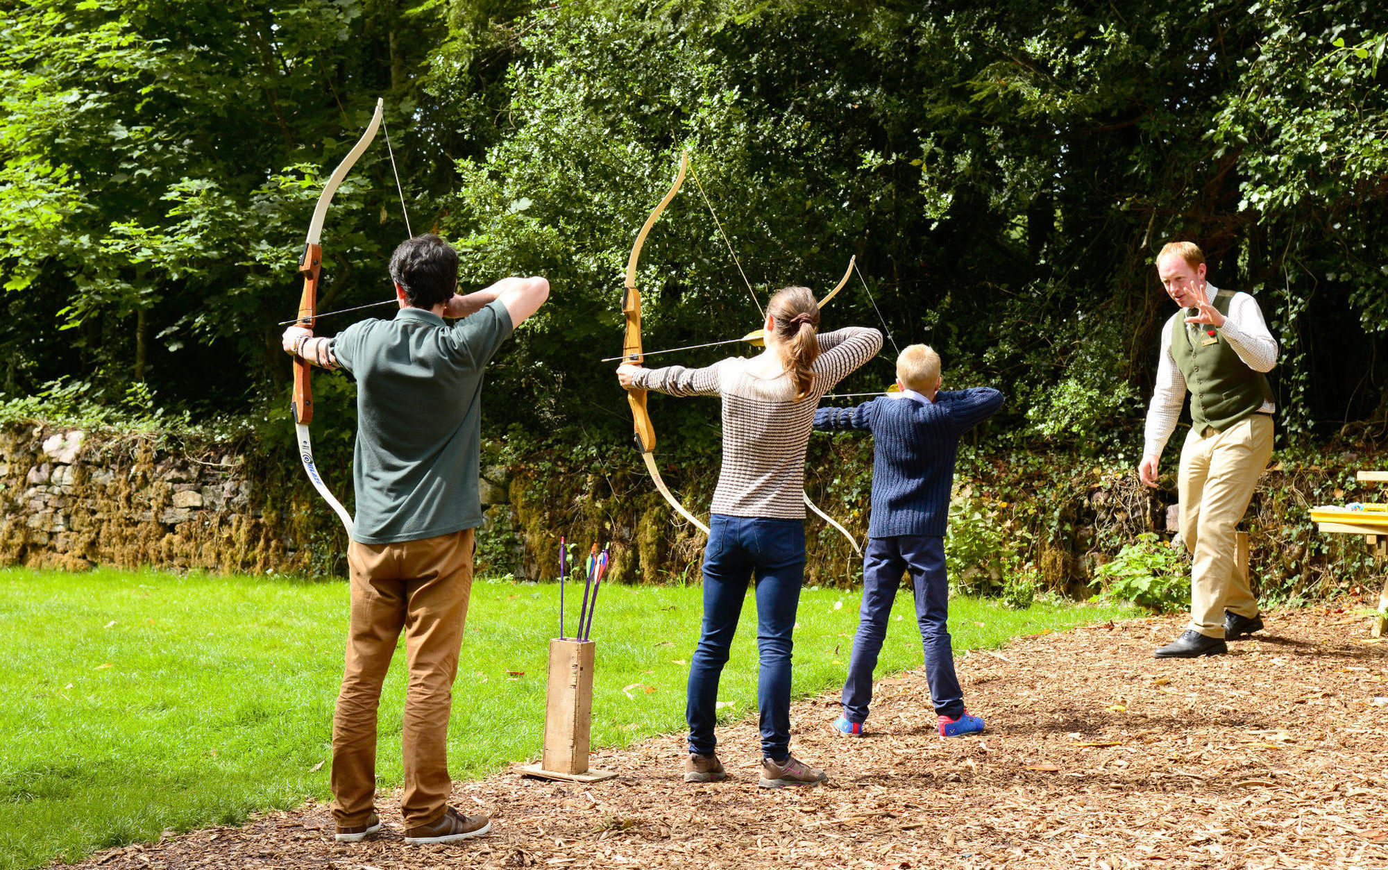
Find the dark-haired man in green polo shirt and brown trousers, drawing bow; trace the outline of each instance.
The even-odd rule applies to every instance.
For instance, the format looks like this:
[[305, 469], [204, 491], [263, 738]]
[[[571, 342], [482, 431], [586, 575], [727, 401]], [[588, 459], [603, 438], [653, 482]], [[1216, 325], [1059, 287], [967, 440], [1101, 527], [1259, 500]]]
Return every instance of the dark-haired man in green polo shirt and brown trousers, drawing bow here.
[[[390, 258], [400, 311], [336, 338], [285, 331], [285, 349], [357, 379], [353, 488], [357, 518], [347, 549], [351, 616], [333, 716], [336, 839], [380, 830], [376, 816], [376, 709], [400, 632], [405, 634], [405, 842], [486, 834], [486, 816], [448, 806], [448, 714], [472, 591], [482, 374], [501, 342], [550, 295], [544, 278], [505, 278], [458, 296], [458, 254], [434, 235]], [[448, 324], [444, 318], [462, 318]]]

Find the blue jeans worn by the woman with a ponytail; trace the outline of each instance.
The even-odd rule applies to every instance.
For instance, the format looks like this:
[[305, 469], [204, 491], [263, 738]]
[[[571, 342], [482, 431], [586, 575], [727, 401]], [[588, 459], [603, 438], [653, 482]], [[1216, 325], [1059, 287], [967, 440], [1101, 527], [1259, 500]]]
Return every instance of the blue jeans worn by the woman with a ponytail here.
[[690, 663], [690, 752], [713, 755], [718, 678], [727, 664], [747, 581], [756, 578], [756, 709], [762, 755], [790, 755], [790, 653], [805, 578], [805, 521], [713, 514], [704, 549], [704, 630]]

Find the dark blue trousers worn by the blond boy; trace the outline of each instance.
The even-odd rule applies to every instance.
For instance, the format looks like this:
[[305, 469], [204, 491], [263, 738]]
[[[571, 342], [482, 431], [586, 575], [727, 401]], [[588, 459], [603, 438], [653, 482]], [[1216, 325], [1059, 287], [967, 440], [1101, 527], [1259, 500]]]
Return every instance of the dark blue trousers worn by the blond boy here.
[[963, 713], [963, 689], [954, 670], [949, 628], [949, 580], [945, 577], [945, 539], [934, 535], [869, 538], [863, 553], [863, 603], [858, 612], [858, 634], [844, 681], [844, 716], [866, 721], [872, 703], [872, 673], [887, 638], [887, 620], [897, 598], [901, 575], [911, 573], [916, 592], [916, 624], [926, 652], [926, 680], [936, 713], [958, 719]]

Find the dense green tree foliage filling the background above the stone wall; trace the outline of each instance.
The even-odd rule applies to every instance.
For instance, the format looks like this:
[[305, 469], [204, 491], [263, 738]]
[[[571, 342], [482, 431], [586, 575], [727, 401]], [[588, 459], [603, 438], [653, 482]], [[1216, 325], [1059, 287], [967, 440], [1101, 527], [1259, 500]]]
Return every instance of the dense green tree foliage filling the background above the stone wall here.
[[[1284, 429], [1388, 410], [1377, 4], [0, 8], [10, 392], [96, 371], [186, 406], [215, 359], [218, 407], [278, 403], [298, 238], [380, 95], [415, 231], [459, 246], [468, 286], [554, 286], [498, 360], [493, 425], [625, 439], [597, 360], [680, 151], [694, 175], [641, 260], [648, 349], [758, 325], [706, 195], [761, 300], [822, 293], [856, 256], [872, 297], [855, 278], [826, 325], [879, 325], [876, 302], [948, 384], [1002, 386], [1017, 443], [1133, 459], [1174, 311], [1152, 258], [1176, 238], [1259, 296]], [[329, 214], [323, 307], [382, 297], [401, 235], [378, 147]], [[891, 356], [844, 391], [890, 382]], [[713, 449], [715, 403], [657, 403], [666, 445]]]

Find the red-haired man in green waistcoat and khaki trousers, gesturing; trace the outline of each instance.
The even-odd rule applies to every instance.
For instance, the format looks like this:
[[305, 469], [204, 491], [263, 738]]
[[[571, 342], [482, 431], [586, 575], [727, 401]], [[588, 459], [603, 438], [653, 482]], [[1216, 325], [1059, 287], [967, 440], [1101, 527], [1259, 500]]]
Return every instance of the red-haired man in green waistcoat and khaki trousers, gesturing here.
[[1248, 293], [1205, 281], [1205, 254], [1171, 242], [1156, 256], [1162, 286], [1181, 310], [1162, 327], [1156, 388], [1146, 411], [1138, 474], [1156, 486], [1158, 461], [1191, 393], [1191, 431], [1181, 448], [1181, 539], [1191, 552], [1191, 623], [1158, 659], [1228, 652], [1263, 628], [1258, 599], [1234, 557], [1234, 528], [1273, 453], [1277, 340]]

